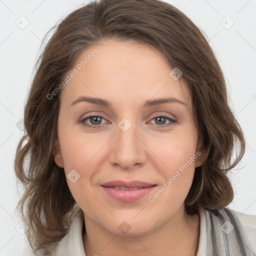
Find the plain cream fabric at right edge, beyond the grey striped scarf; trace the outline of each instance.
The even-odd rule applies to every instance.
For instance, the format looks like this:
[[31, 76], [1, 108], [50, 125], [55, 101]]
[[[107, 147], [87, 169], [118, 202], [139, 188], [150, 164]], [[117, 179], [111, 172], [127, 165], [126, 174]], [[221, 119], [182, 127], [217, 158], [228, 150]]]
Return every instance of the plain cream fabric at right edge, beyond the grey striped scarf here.
[[236, 210], [233, 210], [233, 212], [239, 218], [252, 252], [256, 255], [256, 215], [245, 214]]

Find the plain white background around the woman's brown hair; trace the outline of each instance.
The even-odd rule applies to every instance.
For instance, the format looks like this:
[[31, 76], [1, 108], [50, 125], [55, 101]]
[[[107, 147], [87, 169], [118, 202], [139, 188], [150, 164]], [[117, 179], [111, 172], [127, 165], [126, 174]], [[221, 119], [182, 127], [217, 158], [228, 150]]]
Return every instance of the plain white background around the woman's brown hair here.
[[[15, 206], [21, 190], [13, 161], [41, 40], [60, 18], [86, 2], [0, 0], [0, 255], [21, 254], [27, 247], [25, 235], [17, 231], [21, 219]], [[231, 108], [246, 137], [243, 160], [230, 173], [235, 197], [229, 206], [256, 215], [256, 0], [167, 2], [203, 30], [223, 69]]]

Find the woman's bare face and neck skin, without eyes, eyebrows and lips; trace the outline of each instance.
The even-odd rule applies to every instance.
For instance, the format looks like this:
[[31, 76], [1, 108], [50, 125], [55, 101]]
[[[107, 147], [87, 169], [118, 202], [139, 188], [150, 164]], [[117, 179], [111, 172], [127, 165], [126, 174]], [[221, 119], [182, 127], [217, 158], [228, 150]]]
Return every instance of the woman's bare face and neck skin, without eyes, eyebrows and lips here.
[[[66, 175], [72, 169], [80, 175], [74, 183], [67, 178], [67, 183], [84, 212], [86, 256], [108, 256], [113, 251], [115, 255], [196, 255], [199, 216], [186, 214], [184, 200], [204, 152], [187, 85], [182, 76], [174, 80], [169, 75], [173, 67], [160, 51], [131, 40], [108, 39], [82, 51], [75, 63], [84, 60], [95, 47], [99, 52], [61, 91], [54, 146], [55, 163], [64, 167]], [[70, 106], [79, 96], [104, 98], [112, 106], [86, 101]], [[166, 96], [185, 104], [142, 107], [146, 100]], [[99, 124], [90, 118], [84, 121], [101, 125], [99, 128], [79, 123], [89, 115], [103, 117]], [[156, 116], [176, 121], [159, 122]], [[118, 126], [123, 118], [131, 123], [127, 131]], [[197, 150], [200, 157], [150, 202], [148, 196], [160, 189]], [[116, 179], [141, 180], [157, 186], [139, 200], [120, 202], [100, 186]], [[130, 226], [125, 234], [118, 228], [123, 221]]]

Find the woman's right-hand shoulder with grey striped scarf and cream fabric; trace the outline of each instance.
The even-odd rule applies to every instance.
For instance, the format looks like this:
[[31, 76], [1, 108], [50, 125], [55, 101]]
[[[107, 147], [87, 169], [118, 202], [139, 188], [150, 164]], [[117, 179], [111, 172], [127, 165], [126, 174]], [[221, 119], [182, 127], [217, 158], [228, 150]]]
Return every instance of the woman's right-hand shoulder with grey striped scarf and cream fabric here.
[[234, 250], [239, 255], [256, 256], [256, 215], [235, 211], [229, 206], [214, 210], [204, 209], [204, 212], [202, 221], [204, 220], [207, 241], [212, 241], [207, 248], [209, 254], [214, 250], [221, 253]]

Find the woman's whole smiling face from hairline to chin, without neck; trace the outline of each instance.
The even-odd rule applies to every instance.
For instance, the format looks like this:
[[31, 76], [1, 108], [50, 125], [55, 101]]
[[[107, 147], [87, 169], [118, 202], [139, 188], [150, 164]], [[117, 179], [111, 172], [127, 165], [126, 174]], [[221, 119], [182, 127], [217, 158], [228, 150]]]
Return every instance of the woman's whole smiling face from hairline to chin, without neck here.
[[135, 235], [183, 213], [201, 152], [182, 76], [173, 79], [161, 52], [131, 40], [87, 48], [73, 68], [54, 154], [85, 220]]

